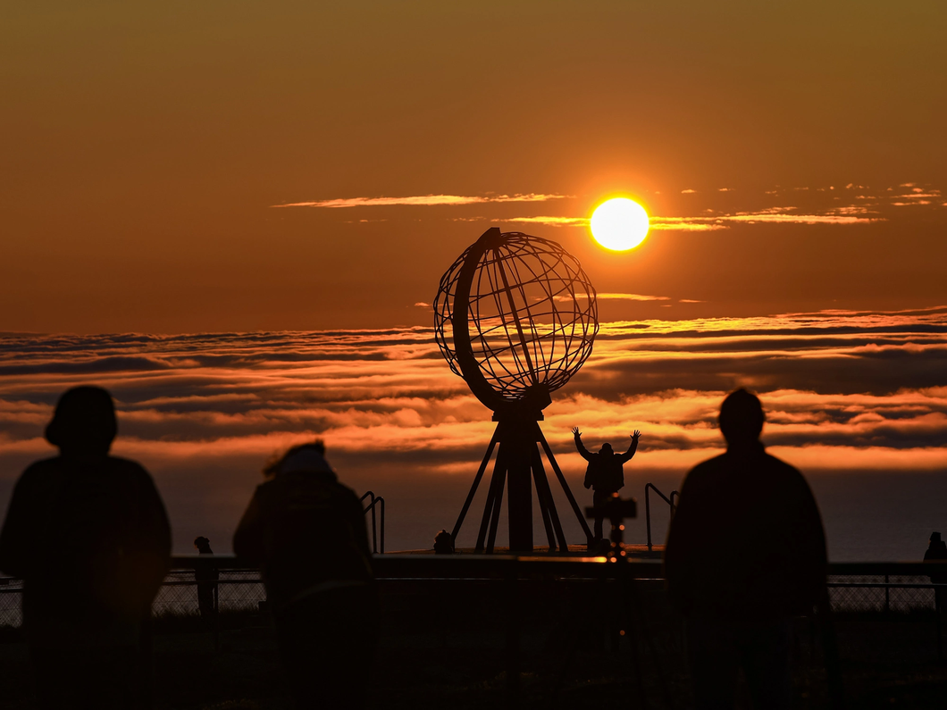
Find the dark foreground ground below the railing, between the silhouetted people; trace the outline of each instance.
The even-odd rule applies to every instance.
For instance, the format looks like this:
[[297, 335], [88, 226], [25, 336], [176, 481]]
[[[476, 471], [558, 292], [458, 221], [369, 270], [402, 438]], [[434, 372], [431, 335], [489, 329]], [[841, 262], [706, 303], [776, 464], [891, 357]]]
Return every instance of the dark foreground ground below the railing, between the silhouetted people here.
[[[506, 705], [507, 629], [513, 620], [521, 630], [518, 707], [690, 707], [682, 624], [659, 581], [639, 581], [629, 595], [631, 626], [613, 583], [526, 581], [521, 589], [521, 603], [511, 610], [497, 582], [385, 582], [371, 706]], [[835, 626], [849, 708], [947, 708], [947, 665], [938, 662], [933, 612], [839, 614]], [[195, 617], [157, 619], [154, 631], [155, 707], [292, 707], [265, 613], [224, 614], [219, 651]], [[819, 639], [811, 620], [796, 620], [799, 708], [828, 706]], [[0, 704], [31, 707], [26, 648], [16, 632], [2, 640]], [[634, 681], [635, 656], [644, 705]], [[749, 706], [745, 698], [742, 706]]]

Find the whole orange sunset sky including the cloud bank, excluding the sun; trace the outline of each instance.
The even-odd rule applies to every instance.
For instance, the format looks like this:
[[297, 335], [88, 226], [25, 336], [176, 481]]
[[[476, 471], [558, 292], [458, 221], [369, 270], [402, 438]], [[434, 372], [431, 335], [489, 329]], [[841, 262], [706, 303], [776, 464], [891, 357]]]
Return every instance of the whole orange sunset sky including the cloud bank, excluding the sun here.
[[[939, 2], [6, 7], [0, 507], [96, 382], [179, 552], [315, 435], [426, 544], [491, 433], [430, 304], [491, 226], [603, 295], [546, 412], [572, 480], [581, 424], [678, 485], [746, 385], [804, 470], [942, 481], [945, 36]], [[614, 196], [652, 216], [626, 253]]]

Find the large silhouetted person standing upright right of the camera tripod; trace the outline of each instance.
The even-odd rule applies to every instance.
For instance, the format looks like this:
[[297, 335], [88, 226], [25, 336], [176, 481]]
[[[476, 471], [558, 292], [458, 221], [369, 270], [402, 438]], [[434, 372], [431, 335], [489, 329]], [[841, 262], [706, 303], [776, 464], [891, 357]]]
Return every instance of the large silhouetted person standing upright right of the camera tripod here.
[[733, 707], [740, 666], [755, 708], [788, 708], [790, 617], [824, 592], [818, 507], [802, 474], [764, 451], [763, 419], [746, 390], [724, 399], [726, 453], [690, 470], [670, 524], [665, 575], [698, 708]]

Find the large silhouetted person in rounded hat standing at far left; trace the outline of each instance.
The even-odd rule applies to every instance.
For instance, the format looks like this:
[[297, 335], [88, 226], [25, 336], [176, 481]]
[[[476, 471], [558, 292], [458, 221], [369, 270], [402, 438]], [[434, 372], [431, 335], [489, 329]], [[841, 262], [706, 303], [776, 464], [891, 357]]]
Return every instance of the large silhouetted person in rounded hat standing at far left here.
[[23, 624], [44, 708], [126, 708], [138, 691], [143, 624], [168, 571], [170, 528], [152, 477], [109, 455], [112, 398], [76, 387], [0, 533], [0, 569], [24, 579]]

